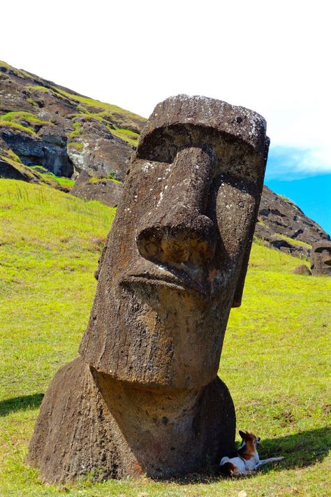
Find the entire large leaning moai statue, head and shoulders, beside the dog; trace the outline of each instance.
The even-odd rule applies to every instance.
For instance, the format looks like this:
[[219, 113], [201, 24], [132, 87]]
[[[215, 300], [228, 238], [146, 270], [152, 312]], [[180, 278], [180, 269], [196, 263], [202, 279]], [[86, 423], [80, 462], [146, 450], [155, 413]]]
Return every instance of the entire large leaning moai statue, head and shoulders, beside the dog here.
[[103, 250], [80, 356], [41, 405], [29, 462], [45, 481], [183, 475], [233, 449], [235, 409], [217, 371], [244, 287], [265, 128], [253, 111], [205, 97], [156, 106]]

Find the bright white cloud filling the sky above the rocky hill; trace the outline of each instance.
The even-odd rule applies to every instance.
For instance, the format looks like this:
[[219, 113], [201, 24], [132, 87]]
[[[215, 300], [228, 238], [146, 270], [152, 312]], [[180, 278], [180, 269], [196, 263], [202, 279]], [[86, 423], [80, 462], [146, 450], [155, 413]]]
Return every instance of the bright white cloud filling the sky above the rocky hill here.
[[1, 19], [13, 66], [145, 116], [178, 93], [247, 106], [307, 170], [330, 164], [327, 0], [17, 0]]

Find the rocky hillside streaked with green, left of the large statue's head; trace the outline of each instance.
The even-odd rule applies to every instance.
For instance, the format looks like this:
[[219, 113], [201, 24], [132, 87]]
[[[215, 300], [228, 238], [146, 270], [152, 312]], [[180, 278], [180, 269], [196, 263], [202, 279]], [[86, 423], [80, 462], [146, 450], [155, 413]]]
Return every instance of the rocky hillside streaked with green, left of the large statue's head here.
[[0, 138], [55, 175], [124, 178], [145, 119], [0, 62]]

